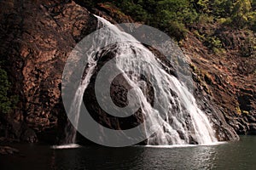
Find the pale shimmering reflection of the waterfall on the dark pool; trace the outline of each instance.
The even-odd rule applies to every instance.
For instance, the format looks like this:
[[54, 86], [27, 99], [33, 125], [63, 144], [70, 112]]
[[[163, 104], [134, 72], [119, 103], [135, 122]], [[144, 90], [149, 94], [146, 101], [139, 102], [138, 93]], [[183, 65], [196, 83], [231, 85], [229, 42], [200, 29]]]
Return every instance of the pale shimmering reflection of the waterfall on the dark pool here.
[[215, 154], [215, 148], [212, 146], [153, 148], [144, 151], [143, 161], [145, 169], [211, 169]]

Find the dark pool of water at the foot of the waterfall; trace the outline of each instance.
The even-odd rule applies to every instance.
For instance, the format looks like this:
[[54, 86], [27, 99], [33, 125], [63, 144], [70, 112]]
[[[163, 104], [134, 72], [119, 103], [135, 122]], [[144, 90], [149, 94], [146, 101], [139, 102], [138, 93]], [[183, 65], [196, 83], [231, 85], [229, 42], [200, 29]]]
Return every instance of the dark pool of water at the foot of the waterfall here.
[[256, 169], [256, 136], [241, 141], [181, 148], [84, 146], [52, 150], [15, 145], [23, 156], [0, 156], [1, 169]]

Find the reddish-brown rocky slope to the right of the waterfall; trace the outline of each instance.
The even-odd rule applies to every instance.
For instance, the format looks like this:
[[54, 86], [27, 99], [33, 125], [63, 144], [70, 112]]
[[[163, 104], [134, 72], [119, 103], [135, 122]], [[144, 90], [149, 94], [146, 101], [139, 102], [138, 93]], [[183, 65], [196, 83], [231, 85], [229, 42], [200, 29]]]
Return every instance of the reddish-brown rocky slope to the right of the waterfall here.
[[244, 56], [243, 49], [248, 39], [256, 37], [227, 28], [219, 28], [216, 34], [224, 42], [225, 53], [210, 53], [192, 33], [183, 42], [183, 52], [189, 56], [196, 82], [218, 105], [230, 126], [239, 134], [255, 134], [256, 58], [255, 52]]

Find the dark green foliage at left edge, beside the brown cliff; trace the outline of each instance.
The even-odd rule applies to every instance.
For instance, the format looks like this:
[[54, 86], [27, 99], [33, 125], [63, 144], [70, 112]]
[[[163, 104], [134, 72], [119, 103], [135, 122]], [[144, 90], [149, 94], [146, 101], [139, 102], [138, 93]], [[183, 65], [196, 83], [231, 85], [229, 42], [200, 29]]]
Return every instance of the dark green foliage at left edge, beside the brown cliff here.
[[17, 103], [17, 97], [9, 96], [10, 82], [7, 72], [0, 67], [0, 113], [7, 114]]

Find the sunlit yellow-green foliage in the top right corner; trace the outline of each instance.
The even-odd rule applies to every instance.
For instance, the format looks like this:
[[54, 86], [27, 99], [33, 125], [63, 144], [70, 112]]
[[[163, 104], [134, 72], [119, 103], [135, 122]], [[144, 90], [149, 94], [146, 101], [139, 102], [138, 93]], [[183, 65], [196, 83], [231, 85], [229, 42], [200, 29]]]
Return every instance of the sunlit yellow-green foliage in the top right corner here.
[[[195, 0], [194, 7], [201, 14], [213, 16], [222, 24], [255, 31], [255, 0]], [[226, 22], [224, 22], [224, 20]]]

